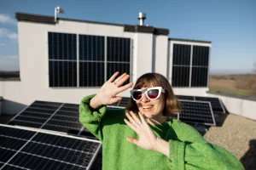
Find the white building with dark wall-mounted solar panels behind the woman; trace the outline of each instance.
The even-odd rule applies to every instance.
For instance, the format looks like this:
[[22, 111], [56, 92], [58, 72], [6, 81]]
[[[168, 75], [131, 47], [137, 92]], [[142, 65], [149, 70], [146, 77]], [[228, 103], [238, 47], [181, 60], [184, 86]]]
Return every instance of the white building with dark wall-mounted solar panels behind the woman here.
[[[16, 13], [20, 81], [0, 82], [3, 113], [35, 100], [79, 104], [115, 71], [158, 72], [175, 94], [206, 96], [211, 42], [169, 37], [169, 30]], [[129, 96], [129, 91], [120, 94]]]

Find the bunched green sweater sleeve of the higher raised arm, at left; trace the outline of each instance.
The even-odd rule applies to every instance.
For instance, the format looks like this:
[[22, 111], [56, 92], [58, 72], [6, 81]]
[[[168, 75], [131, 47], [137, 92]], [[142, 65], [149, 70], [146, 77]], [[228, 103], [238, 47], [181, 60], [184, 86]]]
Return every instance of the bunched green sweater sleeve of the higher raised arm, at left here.
[[84, 97], [79, 105], [79, 121], [86, 127], [90, 133], [93, 133], [97, 139], [103, 140], [101, 120], [107, 111], [106, 105], [102, 105], [96, 110], [91, 110], [89, 103], [96, 94]]

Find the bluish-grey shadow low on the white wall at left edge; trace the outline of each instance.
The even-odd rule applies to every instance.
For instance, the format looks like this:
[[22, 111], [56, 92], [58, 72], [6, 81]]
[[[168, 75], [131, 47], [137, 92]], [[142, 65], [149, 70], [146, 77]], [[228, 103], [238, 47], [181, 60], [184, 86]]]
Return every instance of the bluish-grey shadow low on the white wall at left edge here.
[[2, 113], [7, 115], [14, 115], [22, 111], [27, 105], [11, 101], [9, 99], [3, 99]]

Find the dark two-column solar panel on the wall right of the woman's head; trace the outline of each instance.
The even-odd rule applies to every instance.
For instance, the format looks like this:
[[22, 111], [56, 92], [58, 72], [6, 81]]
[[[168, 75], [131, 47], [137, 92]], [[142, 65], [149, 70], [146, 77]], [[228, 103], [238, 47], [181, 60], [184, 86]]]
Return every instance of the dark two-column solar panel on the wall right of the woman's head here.
[[173, 44], [172, 86], [207, 87], [208, 60], [209, 47]]

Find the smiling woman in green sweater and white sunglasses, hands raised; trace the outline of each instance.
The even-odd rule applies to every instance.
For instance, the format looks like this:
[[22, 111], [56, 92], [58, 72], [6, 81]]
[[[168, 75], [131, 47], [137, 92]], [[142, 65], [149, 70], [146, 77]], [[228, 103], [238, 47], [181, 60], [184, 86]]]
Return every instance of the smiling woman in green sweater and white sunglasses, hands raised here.
[[[103, 169], [243, 169], [223, 148], [209, 144], [193, 127], [167, 116], [180, 106], [170, 83], [157, 73], [137, 79], [124, 110], [107, 109], [118, 102], [129, 75], [116, 72], [98, 94], [85, 97], [80, 122], [102, 141]], [[117, 78], [116, 78], [117, 77]]]

